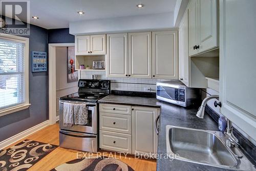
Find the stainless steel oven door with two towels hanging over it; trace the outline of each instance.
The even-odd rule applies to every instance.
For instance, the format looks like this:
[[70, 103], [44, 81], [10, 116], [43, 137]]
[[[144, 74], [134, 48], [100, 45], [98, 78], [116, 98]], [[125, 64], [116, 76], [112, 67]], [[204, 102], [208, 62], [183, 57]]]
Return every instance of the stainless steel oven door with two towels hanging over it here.
[[[74, 125], [73, 127], [63, 126], [63, 103], [86, 104], [88, 106], [88, 124]], [[76, 101], [59, 101], [59, 128], [61, 130], [77, 131], [82, 133], [97, 134], [97, 103], [86, 103]]]

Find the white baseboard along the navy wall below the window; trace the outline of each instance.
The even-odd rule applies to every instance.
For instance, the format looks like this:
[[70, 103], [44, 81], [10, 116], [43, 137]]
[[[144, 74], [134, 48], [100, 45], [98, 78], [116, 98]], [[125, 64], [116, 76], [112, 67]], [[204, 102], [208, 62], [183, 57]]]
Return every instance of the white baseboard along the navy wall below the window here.
[[29, 128], [29, 129], [27, 129], [27, 130], [25, 130], [23, 132], [20, 132], [20, 133], [14, 135], [14, 136], [12, 136], [12, 137], [10, 137], [8, 139], [5, 139], [5, 140], [1, 141], [0, 142], [0, 150], [6, 148], [10, 144], [12, 144], [12, 143], [14, 143], [14, 142], [16, 142], [16, 141], [18, 141], [20, 139], [23, 139], [26, 136], [31, 135], [34, 132], [39, 131], [39, 130], [47, 127], [47, 126], [49, 126], [49, 120], [46, 120], [46, 121], [44, 121], [44, 122], [42, 122], [42, 123], [40, 123], [40, 124], [38, 124], [38, 125], [36, 125], [34, 127], [31, 127], [31, 128]]

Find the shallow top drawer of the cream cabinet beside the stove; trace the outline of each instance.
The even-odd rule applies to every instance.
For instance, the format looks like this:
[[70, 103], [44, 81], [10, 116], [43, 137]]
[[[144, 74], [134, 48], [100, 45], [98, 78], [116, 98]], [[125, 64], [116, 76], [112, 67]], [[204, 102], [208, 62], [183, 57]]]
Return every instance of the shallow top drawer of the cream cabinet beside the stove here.
[[99, 104], [100, 112], [118, 113], [131, 115], [131, 106], [115, 105], [115, 104]]

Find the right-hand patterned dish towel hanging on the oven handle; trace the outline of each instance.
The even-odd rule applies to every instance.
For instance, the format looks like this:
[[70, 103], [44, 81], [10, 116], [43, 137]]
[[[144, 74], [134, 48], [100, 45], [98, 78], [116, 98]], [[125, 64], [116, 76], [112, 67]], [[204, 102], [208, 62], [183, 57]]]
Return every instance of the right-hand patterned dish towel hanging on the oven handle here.
[[88, 106], [86, 104], [74, 104], [74, 124], [88, 124]]

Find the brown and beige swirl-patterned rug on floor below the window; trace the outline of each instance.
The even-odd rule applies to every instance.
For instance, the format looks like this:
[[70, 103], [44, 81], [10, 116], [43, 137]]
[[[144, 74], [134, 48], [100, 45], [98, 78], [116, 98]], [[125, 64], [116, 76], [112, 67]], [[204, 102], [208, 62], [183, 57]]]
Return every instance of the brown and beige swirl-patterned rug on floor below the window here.
[[7, 150], [0, 151], [0, 171], [28, 170], [57, 146], [25, 139]]

